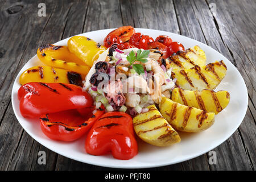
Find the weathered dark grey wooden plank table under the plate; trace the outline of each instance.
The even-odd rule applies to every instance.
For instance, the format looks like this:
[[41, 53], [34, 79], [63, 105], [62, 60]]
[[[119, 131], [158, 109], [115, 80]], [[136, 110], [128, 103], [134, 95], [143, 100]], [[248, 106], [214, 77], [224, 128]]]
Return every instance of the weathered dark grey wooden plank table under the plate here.
[[[204, 154], [183, 163], [150, 170], [255, 169], [254, 0], [43, 1], [46, 4], [45, 17], [38, 14], [40, 2], [0, 0], [1, 170], [112, 169], [65, 158], [36, 142], [15, 118], [11, 89], [20, 69], [42, 44], [123, 25], [174, 32], [208, 44], [232, 61], [245, 80], [249, 94], [247, 113], [241, 126], [232, 137], [214, 148], [216, 165], [210, 165], [209, 155]], [[39, 151], [46, 152], [46, 165], [38, 164]]]

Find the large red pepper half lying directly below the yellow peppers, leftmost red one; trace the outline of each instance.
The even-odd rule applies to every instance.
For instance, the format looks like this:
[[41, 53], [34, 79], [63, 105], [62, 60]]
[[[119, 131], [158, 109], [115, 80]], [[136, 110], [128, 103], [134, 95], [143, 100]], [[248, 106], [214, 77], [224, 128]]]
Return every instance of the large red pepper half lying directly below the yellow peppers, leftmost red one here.
[[34, 118], [43, 114], [92, 106], [89, 93], [72, 84], [30, 82], [18, 90], [19, 109], [23, 117]]

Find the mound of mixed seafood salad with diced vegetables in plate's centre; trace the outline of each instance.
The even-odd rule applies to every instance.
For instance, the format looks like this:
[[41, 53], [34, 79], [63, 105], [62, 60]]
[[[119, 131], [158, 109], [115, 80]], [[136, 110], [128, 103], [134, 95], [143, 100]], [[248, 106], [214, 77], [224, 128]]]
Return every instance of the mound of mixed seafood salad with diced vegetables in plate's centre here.
[[[135, 60], [133, 63], [142, 65], [138, 73], [127, 56], [142, 53], [147, 53], [144, 61]], [[149, 105], [159, 104], [162, 96], [170, 98], [170, 90], [174, 87], [171, 69], [160, 66], [150, 51], [138, 48], [120, 50], [113, 44], [94, 63], [83, 89], [92, 95], [96, 108], [104, 104], [107, 111], [123, 111], [134, 116], [148, 111]]]

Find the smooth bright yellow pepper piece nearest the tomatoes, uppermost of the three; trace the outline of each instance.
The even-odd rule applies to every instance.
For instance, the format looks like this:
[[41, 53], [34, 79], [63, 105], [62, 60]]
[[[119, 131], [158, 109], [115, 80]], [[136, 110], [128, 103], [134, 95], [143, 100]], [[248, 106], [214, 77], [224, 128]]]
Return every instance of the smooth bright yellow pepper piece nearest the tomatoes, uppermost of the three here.
[[73, 36], [68, 40], [68, 49], [92, 67], [93, 62], [106, 50], [106, 47], [85, 36]]

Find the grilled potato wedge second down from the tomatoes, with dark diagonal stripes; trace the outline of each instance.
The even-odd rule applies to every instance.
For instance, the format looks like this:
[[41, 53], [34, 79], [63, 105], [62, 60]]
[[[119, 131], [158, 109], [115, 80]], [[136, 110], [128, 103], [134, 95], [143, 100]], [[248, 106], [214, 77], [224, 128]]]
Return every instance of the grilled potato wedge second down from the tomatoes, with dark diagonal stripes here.
[[220, 84], [226, 75], [226, 65], [223, 61], [216, 61], [199, 67], [172, 71], [172, 79], [177, 78], [176, 85], [184, 90], [212, 90]]

